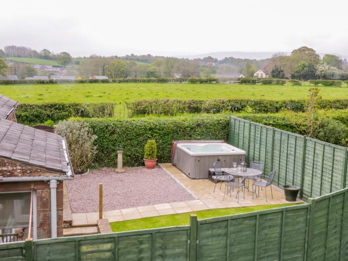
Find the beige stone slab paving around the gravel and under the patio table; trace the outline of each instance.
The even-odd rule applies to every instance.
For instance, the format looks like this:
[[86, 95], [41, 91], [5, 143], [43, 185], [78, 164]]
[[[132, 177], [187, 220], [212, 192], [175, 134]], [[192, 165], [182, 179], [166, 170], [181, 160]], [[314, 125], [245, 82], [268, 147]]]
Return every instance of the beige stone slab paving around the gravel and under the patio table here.
[[[245, 199], [243, 198], [243, 192], [239, 197], [239, 203], [237, 203], [236, 190], [230, 195], [224, 196], [224, 184], [222, 184], [220, 190], [220, 184], [216, 186], [215, 193], [214, 183], [209, 179], [190, 179], [181, 171], [176, 169], [172, 164], [161, 164], [168, 174], [179, 182], [182, 186], [187, 188], [197, 199], [189, 201], [181, 201], [174, 203], [165, 203], [149, 206], [132, 207], [126, 209], [112, 210], [103, 212], [103, 218], [109, 220], [109, 222], [123, 221], [130, 219], [137, 219], [143, 217], [153, 217], [160, 215], [185, 213], [198, 210], [214, 209], [214, 208], [226, 208], [226, 207], [244, 207], [244, 206], [255, 206], [265, 204], [283, 204], [289, 203], [285, 200], [284, 192], [282, 189], [272, 186], [273, 199], [271, 198], [271, 191], [267, 187], [267, 199], [265, 200], [265, 191], [260, 190], [260, 197], [252, 197], [252, 192], [245, 191]], [[297, 200], [297, 202], [303, 202]], [[97, 212], [90, 213], [76, 213], [73, 216], [73, 226], [81, 226], [81, 232], [84, 232], [84, 226], [96, 226], [96, 220], [98, 219]], [[88, 228], [89, 229], [89, 228]]]

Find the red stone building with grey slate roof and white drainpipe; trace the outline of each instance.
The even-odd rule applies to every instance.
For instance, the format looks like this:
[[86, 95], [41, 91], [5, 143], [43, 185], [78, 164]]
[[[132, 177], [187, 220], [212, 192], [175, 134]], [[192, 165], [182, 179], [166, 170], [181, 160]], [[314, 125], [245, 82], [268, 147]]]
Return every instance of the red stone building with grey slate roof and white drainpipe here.
[[[1, 96], [0, 100], [4, 99]], [[10, 101], [8, 104], [13, 104]], [[63, 180], [74, 178], [66, 141], [57, 134], [3, 116], [0, 119], [0, 243], [24, 240], [29, 233], [34, 239], [61, 237]]]

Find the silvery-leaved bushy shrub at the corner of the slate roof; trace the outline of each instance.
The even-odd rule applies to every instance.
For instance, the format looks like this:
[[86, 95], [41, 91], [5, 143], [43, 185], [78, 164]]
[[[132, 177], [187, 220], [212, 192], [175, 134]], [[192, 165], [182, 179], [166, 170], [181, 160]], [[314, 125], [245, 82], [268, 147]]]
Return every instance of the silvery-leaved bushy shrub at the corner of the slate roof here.
[[61, 121], [55, 126], [54, 132], [67, 140], [74, 172], [77, 174], [85, 172], [96, 153], [93, 143], [97, 138], [91, 134], [87, 122]]

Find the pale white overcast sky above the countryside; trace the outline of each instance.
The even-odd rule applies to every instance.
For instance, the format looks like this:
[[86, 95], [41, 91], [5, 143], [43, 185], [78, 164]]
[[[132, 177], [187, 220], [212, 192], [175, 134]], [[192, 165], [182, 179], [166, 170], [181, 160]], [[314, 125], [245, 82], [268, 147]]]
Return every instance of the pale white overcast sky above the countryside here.
[[0, 8], [0, 48], [106, 56], [306, 45], [348, 55], [345, 0], [12, 0]]

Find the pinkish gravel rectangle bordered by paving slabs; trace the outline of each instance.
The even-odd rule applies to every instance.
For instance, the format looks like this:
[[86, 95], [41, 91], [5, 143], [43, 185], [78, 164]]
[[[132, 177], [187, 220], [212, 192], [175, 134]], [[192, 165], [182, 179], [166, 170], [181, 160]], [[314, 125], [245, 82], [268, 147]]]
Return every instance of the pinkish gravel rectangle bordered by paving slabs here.
[[72, 212], [98, 211], [99, 183], [103, 183], [104, 211], [194, 199], [160, 167], [125, 168], [125, 171], [115, 173], [115, 169], [102, 168], [67, 180]]

